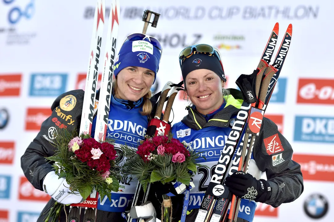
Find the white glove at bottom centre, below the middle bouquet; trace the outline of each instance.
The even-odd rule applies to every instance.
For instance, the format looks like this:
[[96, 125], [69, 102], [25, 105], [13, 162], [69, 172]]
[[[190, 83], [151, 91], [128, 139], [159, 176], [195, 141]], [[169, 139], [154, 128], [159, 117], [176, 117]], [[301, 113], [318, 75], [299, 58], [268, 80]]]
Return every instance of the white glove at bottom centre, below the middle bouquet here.
[[133, 206], [130, 210], [130, 217], [146, 219], [145, 222], [156, 222], [157, 214], [151, 201], [147, 201], [142, 205]]

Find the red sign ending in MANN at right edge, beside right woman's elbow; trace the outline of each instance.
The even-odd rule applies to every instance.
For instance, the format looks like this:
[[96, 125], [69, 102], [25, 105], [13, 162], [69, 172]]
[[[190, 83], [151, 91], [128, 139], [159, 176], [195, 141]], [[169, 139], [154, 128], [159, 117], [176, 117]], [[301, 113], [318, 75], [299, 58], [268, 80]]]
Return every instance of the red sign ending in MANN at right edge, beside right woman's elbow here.
[[300, 164], [304, 180], [334, 181], [334, 156], [294, 154]]

